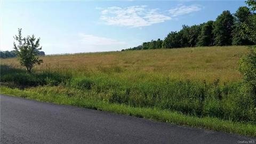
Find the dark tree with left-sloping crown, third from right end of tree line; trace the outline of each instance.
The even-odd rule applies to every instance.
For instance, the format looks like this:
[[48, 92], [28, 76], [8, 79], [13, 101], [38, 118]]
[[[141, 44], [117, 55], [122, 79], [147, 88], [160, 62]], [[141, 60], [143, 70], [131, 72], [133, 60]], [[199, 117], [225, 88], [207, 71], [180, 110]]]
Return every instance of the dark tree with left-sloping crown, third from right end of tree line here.
[[202, 26], [201, 33], [198, 36], [197, 46], [212, 46], [213, 41], [213, 21], [207, 21]]

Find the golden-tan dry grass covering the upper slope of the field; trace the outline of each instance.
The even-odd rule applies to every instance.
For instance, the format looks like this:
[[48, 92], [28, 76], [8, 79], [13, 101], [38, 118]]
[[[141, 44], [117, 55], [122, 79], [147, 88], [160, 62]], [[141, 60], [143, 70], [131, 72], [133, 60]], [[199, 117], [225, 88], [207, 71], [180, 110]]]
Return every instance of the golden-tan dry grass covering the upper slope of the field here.
[[[227, 82], [240, 79], [237, 61], [246, 51], [246, 46], [213, 46], [52, 55], [42, 57], [44, 63], [37, 69], [69, 69], [78, 75], [103, 73], [133, 81], [169, 77]], [[15, 58], [1, 60], [1, 64], [17, 63]]]

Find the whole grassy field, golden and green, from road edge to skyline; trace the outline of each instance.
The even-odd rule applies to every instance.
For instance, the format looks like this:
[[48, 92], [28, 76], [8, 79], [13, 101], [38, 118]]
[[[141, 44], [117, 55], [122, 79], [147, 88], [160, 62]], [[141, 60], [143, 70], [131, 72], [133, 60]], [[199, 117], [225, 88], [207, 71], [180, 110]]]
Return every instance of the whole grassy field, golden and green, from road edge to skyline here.
[[1, 93], [256, 137], [255, 97], [237, 62], [245, 46], [42, 57], [27, 74], [1, 59]]

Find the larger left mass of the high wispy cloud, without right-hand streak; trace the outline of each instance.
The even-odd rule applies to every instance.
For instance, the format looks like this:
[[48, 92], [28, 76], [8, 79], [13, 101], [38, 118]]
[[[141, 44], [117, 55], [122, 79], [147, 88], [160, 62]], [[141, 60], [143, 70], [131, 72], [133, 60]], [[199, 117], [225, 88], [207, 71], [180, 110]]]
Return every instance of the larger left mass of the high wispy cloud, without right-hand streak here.
[[142, 27], [170, 20], [168, 15], [158, 12], [158, 9], [147, 9], [146, 5], [129, 7], [108, 7], [101, 11], [100, 19], [107, 25]]

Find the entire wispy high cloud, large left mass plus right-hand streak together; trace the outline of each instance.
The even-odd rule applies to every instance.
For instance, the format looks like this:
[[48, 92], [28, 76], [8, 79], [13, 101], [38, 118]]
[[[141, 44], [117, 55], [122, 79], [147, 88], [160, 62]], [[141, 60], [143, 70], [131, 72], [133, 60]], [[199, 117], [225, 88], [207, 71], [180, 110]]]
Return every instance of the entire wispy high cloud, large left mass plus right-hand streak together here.
[[171, 20], [179, 15], [199, 11], [202, 7], [201, 5], [178, 5], [170, 9], [167, 13], [159, 12], [159, 9], [149, 9], [147, 5], [129, 7], [112, 6], [107, 7], [107, 9], [97, 7], [97, 9], [101, 10], [100, 19], [106, 25], [143, 27]]

